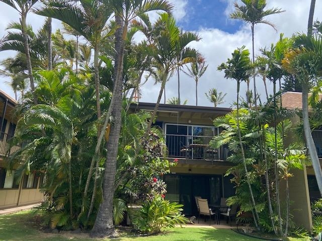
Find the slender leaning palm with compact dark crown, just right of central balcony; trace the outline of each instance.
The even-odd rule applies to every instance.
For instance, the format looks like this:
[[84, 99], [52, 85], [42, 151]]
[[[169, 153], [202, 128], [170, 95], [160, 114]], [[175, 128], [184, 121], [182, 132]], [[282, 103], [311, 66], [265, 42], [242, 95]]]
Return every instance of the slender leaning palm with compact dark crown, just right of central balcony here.
[[243, 82], [243, 81], [246, 82], [247, 79], [251, 77], [253, 67], [251, 65], [251, 61], [249, 58], [250, 52], [249, 50], [245, 49], [245, 46], [236, 49], [231, 54], [231, 56], [232, 58], [228, 59], [226, 63], [222, 63], [221, 65], [218, 66], [218, 70], [220, 71], [224, 70], [225, 78], [235, 79], [237, 82], [237, 98], [236, 98], [237, 133], [238, 133], [238, 139], [239, 139], [241, 158], [243, 160], [246, 180], [247, 180], [248, 188], [251, 195], [251, 201], [253, 204], [253, 212], [255, 212], [254, 221], [257, 229], [259, 229], [259, 226], [258, 226], [259, 215], [256, 209], [256, 202], [253, 195], [253, 189], [251, 186], [249, 172], [247, 170], [243, 141], [241, 139], [240, 127], [239, 127], [239, 86], [240, 86], [240, 82]]

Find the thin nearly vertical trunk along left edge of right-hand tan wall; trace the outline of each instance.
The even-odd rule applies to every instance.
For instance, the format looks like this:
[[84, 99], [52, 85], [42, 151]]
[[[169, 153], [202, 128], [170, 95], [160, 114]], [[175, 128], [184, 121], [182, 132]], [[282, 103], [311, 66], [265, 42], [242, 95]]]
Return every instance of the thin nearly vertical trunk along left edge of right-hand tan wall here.
[[273, 80], [273, 94], [274, 94], [274, 137], [275, 137], [275, 189], [276, 189], [276, 204], [277, 204], [277, 214], [278, 214], [278, 225], [280, 228], [280, 233], [283, 233], [282, 218], [281, 218], [281, 204], [280, 204], [280, 188], [278, 180], [278, 167], [277, 167], [277, 123], [276, 123], [276, 80]]

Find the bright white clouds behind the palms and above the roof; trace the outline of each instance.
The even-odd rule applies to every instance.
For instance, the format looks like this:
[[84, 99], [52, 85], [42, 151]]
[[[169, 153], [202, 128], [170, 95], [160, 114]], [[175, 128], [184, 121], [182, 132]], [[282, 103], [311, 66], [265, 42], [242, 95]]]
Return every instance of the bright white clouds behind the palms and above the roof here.
[[[226, 15], [228, 19], [229, 13], [233, 11], [234, 0], [220, 0], [227, 3]], [[187, 13], [187, 0], [171, 0], [177, 7], [174, 11], [174, 15], [178, 21], [186, 21], [189, 17]], [[286, 37], [292, 36], [296, 32], [305, 32], [307, 25], [307, 18], [309, 12], [309, 1], [301, 0], [267, 0], [268, 8], [278, 7], [286, 10], [285, 13], [279, 15], [269, 16], [267, 19], [272, 21], [278, 32], [275, 32], [270, 26], [260, 24], [255, 27], [255, 49], [260, 47], [270, 46], [271, 43], [276, 42], [279, 39], [279, 33], [284, 33]], [[2, 21], [0, 23], [0, 36], [4, 36], [4, 24], [12, 20], [18, 20], [16, 12], [0, 3]], [[155, 15], [156, 16], [156, 15]], [[322, 16], [322, 3], [317, 1], [315, 7], [314, 19], [321, 19]], [[215, 18], [215, 17], [214, 17]], [[156, 18], [155, 18], [156, 19]], [[216, 21], [216, 19], [210, 20]], [[230, 21], [230, 20], [229, 20]], [[38, 16], [30, 15], [28, 22], [32, 23], [34, 28], [39, 28], [42, 24], [42, 20], [39, 20]], [[59, 26], [58, 22], [56, 27]], [[198, 34], [202, 37], [202, 40], [196, 43], [192, 43], [191, 46], [198, 49], [204, 54], [209, 67], [201, 77], [198, 83], [198, 104], [199, 105], [211, 105], [206, 99], [205, 92], [209, 88], [218, 88], [220, 91], [227, 93], [227, 102], [223, 106], [230, 106], [232, 101], [235, 99], [235, 82], [234, 80], [227, 80], [223, 78], [223, 73], [217, 71], [217, 66], [225, 62], [227, 58], [231, 56], [231, 52], [242, 45], [246, 45], [247, 48], [251, 49], [251, 31], [250, 26], [243, 25], [239, 31], [234, 34], [228, 34], [218, 29], [200, 29]], [[139, 39], [139, 38], [138, 38]], [[258, 53], [258, 51], [256, 51]], [[10, 53], [11, 54], [11, 53]], [[10, 55], [9, 53], [2, 52], [0, 59]], [[251, 83], [253, 86], [253, 83]], [[0, 79], [0, 88], [9, 90]], [[269, 92], [272, 92], [272, 86], [268, 84]], [[264, 85], [262, 81], [257, 78], [257, 89], [260, 92], [262, 99], [265, 99]], [[155, 102], [159, 91], [159, 85], [154, 85], [153, 80], [148, 80], [142, 88], [142, 98], [140, 101]], [[240, 93], [245, 95], [246, 84], [241, 86]], [[166, 95], [167, 99], [177, 96], [177, 76], [174, 75], [172, 79], [167, 83]], [[13, 94], [11, 92], [11, 94]], [[188, 99], [188, 104], [195, 104], [195, 82], [181, 73], [181, 97], [182, 99]], [[162, 99], [163, 102], [163, 99]]]

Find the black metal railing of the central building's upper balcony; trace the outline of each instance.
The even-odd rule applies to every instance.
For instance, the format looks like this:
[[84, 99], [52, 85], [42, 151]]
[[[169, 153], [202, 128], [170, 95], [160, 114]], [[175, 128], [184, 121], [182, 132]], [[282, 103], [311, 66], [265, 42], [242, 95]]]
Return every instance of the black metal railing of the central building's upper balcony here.
[[169, 157], [202, 160], [226, 160], [227, 148], [213, 149], [212, 137], [166, 135]]

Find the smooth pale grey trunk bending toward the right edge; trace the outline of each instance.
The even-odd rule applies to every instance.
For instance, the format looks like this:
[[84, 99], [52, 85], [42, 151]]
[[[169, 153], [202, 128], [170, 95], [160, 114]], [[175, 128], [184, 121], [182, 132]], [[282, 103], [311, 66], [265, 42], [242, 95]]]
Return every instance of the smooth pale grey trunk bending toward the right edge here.
[[322, 196], [322, 171], [318, 160], [314, 141], [312, 138], [308, 117], [308, 77], [305, 76], [304, 78], [306, 78], [305, 80], [302, 79], [302, 115], [304, 136], [306, 141], [306, 147], [308, 149], [308, 154], [310, 156], [312, 166], [314, 169], [317, 186], [320, 191], [320, 195]]

